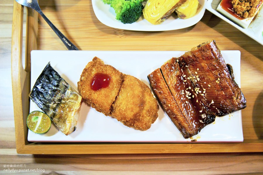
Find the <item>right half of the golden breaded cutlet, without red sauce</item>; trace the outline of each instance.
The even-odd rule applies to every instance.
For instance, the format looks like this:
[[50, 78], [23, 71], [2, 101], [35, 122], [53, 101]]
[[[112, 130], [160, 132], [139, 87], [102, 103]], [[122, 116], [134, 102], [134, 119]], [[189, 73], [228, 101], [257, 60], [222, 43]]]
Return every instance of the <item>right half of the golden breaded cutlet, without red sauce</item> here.
[[112, 116], [128, 127], [147, 130], [158, 117], [159, 105], [150, 88], [130, 75], [124, 75]]

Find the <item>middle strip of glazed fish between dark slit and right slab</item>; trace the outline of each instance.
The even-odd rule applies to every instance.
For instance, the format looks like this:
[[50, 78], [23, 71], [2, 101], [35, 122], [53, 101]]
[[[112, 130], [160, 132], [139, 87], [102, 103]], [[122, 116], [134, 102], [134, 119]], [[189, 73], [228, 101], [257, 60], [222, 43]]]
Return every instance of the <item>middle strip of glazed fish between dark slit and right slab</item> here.
[[[195, 92], [190, 76], [179, 66], [176, 58], [161, 67], [162, 75], [172, 93], [179, 110], [182, 112], [189, 126], [191, 136], [198, 134], [200, 130], [215, 119], [215, 115], [207, 113], [198, 94]], [[202, 90], [203, 91], [203, 90]]]

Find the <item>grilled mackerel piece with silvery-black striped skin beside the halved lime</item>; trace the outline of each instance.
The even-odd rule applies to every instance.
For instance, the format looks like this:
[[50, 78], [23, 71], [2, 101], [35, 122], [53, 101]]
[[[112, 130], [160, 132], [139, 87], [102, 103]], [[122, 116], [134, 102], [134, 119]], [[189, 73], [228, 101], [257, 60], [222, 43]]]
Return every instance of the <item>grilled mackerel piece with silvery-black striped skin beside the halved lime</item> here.
[[29, 97], [65, 135], [75, 131], [82, 97], [50, 66], [50, 63], [37, 78]]

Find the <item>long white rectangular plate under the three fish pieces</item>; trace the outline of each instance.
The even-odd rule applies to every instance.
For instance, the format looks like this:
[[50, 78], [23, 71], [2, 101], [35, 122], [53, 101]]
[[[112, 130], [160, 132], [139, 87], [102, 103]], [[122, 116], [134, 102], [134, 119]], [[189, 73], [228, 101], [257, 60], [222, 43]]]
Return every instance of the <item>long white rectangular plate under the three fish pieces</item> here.
[[[172, 57], [183, 55], [183, 51], [32, 51], [31, 86], [46, 64], [58, 71], [73, 88], [77, 90], [82, 70], [93, 57], [101, 58], [125, 74], [135, 76], [149, 85], [148, 74]], [[236, 82], [240, 85], [240, 52], [222, 51], [226, 63], [233, 66]], [[32, 87], [31, 87], [32, 88]], [[30, 111], [40, 110], [30, 100]], [[193, 136], [197, 142], [242, 142], [241, 111], [216, 118], [201, 132]], [[184, 139], [162, 108], [155, 123], [147, 131], [139, 131], [124, 126], [116, 119], [97, 112], [82, 104], [77, 130], [68, 136], [55, 126], [46, 134], [28, 132], [28, 141], [36, 142], [191, 142]]]

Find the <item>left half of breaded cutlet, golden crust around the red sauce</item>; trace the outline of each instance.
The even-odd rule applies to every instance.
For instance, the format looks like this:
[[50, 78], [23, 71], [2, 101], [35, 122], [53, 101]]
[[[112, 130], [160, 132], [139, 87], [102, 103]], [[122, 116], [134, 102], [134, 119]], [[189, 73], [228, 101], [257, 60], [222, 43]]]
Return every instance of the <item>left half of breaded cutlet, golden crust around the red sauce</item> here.
[[[109, 76], [107, 88], [92, 90], [91, 81], [96, 75]], [[94, 57], [82, 71], [78, 82], [78, 89], [86, 103], [98, 112], [109, 115], [122, 83], [122, 73], [114, 67], [104, 64], [98, 57]]]

